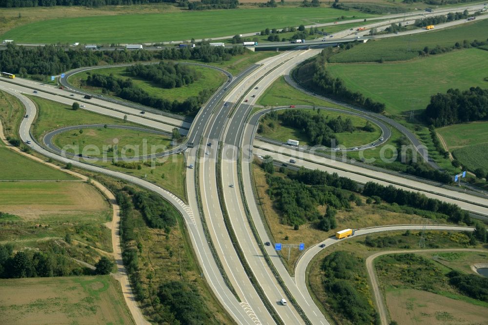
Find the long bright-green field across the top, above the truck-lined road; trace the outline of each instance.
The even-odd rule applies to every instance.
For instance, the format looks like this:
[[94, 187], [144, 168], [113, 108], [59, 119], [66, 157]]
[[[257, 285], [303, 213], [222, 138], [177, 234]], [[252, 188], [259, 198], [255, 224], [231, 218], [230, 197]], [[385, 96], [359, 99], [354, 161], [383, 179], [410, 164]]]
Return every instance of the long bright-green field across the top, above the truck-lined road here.
[[[1, 37], [31, 43], [127, 43], [202, 39], [331, 22], [337, 17], [372, 17], [354, 11], [323, 8], [256, 8], [239, 10], [172, 11], [161, 14], [132, 14], [43, 20], [21, 25]], [[131, 28], [126, 28], [130, 26]], [[175, 26], [178, 26], [175, 28]], [[55, 33], [54, 30], [63, 30]], [[120, 31], [123, 30], [123, 33]]]

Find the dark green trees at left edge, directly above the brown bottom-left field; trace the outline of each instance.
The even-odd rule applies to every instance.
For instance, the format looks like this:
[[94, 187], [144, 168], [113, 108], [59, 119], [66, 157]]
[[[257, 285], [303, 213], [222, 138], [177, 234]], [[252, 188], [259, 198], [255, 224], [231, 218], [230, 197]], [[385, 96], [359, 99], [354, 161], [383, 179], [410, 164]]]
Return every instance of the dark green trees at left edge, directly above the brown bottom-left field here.
[[0, 278], [61, 277], [92, 274], [55, 252], [17, 251], [12, 244], [0, 244]]

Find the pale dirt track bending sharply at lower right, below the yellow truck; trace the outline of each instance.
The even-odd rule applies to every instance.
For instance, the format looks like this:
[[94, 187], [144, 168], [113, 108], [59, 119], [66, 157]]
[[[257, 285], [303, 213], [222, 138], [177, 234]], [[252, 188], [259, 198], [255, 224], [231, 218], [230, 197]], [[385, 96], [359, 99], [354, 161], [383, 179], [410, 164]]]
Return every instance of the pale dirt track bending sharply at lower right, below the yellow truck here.
[[388, 310], [385, 306], [385, 302], [383, 301], [383, 295], [381, 294], [381, 290], [378, 285], [378, 278], [376, 277], [376, 272], [374, 271], [374, 267], [373, 267], [374, 259], [377, 258], [378, 256], [386, 255], [386, 254], [403, 254], [403, 253], [419, 253], [419, 252], [452, 252], [452, 251], [486, 252], [486, 250], [484, 249], [476, 249], [476, 248], [450, 248], [450, 249], [443, 248], [443, 249], [415, 249], [415, 250], [404, 249], [404, 250], [390, 250], [390, 251], [378, 252], [366, 258], [366, 269], [371, 284], [371, 288], [373, 289], [376, 309], [380, 314], [380, 320], [382, 325], [388, 325], [388, 316], [387, 316]]

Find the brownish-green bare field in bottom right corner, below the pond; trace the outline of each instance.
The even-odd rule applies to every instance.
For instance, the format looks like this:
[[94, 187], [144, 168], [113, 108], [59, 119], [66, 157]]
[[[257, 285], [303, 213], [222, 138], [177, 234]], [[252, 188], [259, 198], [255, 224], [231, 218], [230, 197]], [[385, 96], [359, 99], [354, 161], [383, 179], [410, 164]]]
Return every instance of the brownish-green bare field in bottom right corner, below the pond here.
[[402, 325], [487, 324], [488, 308], [427, 291], [395, 289], [386, 293], [391, 320]]

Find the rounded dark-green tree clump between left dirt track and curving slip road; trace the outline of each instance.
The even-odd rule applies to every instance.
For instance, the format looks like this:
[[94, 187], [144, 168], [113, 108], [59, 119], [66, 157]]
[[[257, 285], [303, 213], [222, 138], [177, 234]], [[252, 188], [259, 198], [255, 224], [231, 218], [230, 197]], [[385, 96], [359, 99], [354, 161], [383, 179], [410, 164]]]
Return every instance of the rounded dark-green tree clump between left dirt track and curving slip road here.
[[169, 232], [169, 228], [176, 224], [177, 215], [174, 210], [156, 193], [135, 192], [132, 201], [149, 227]]

